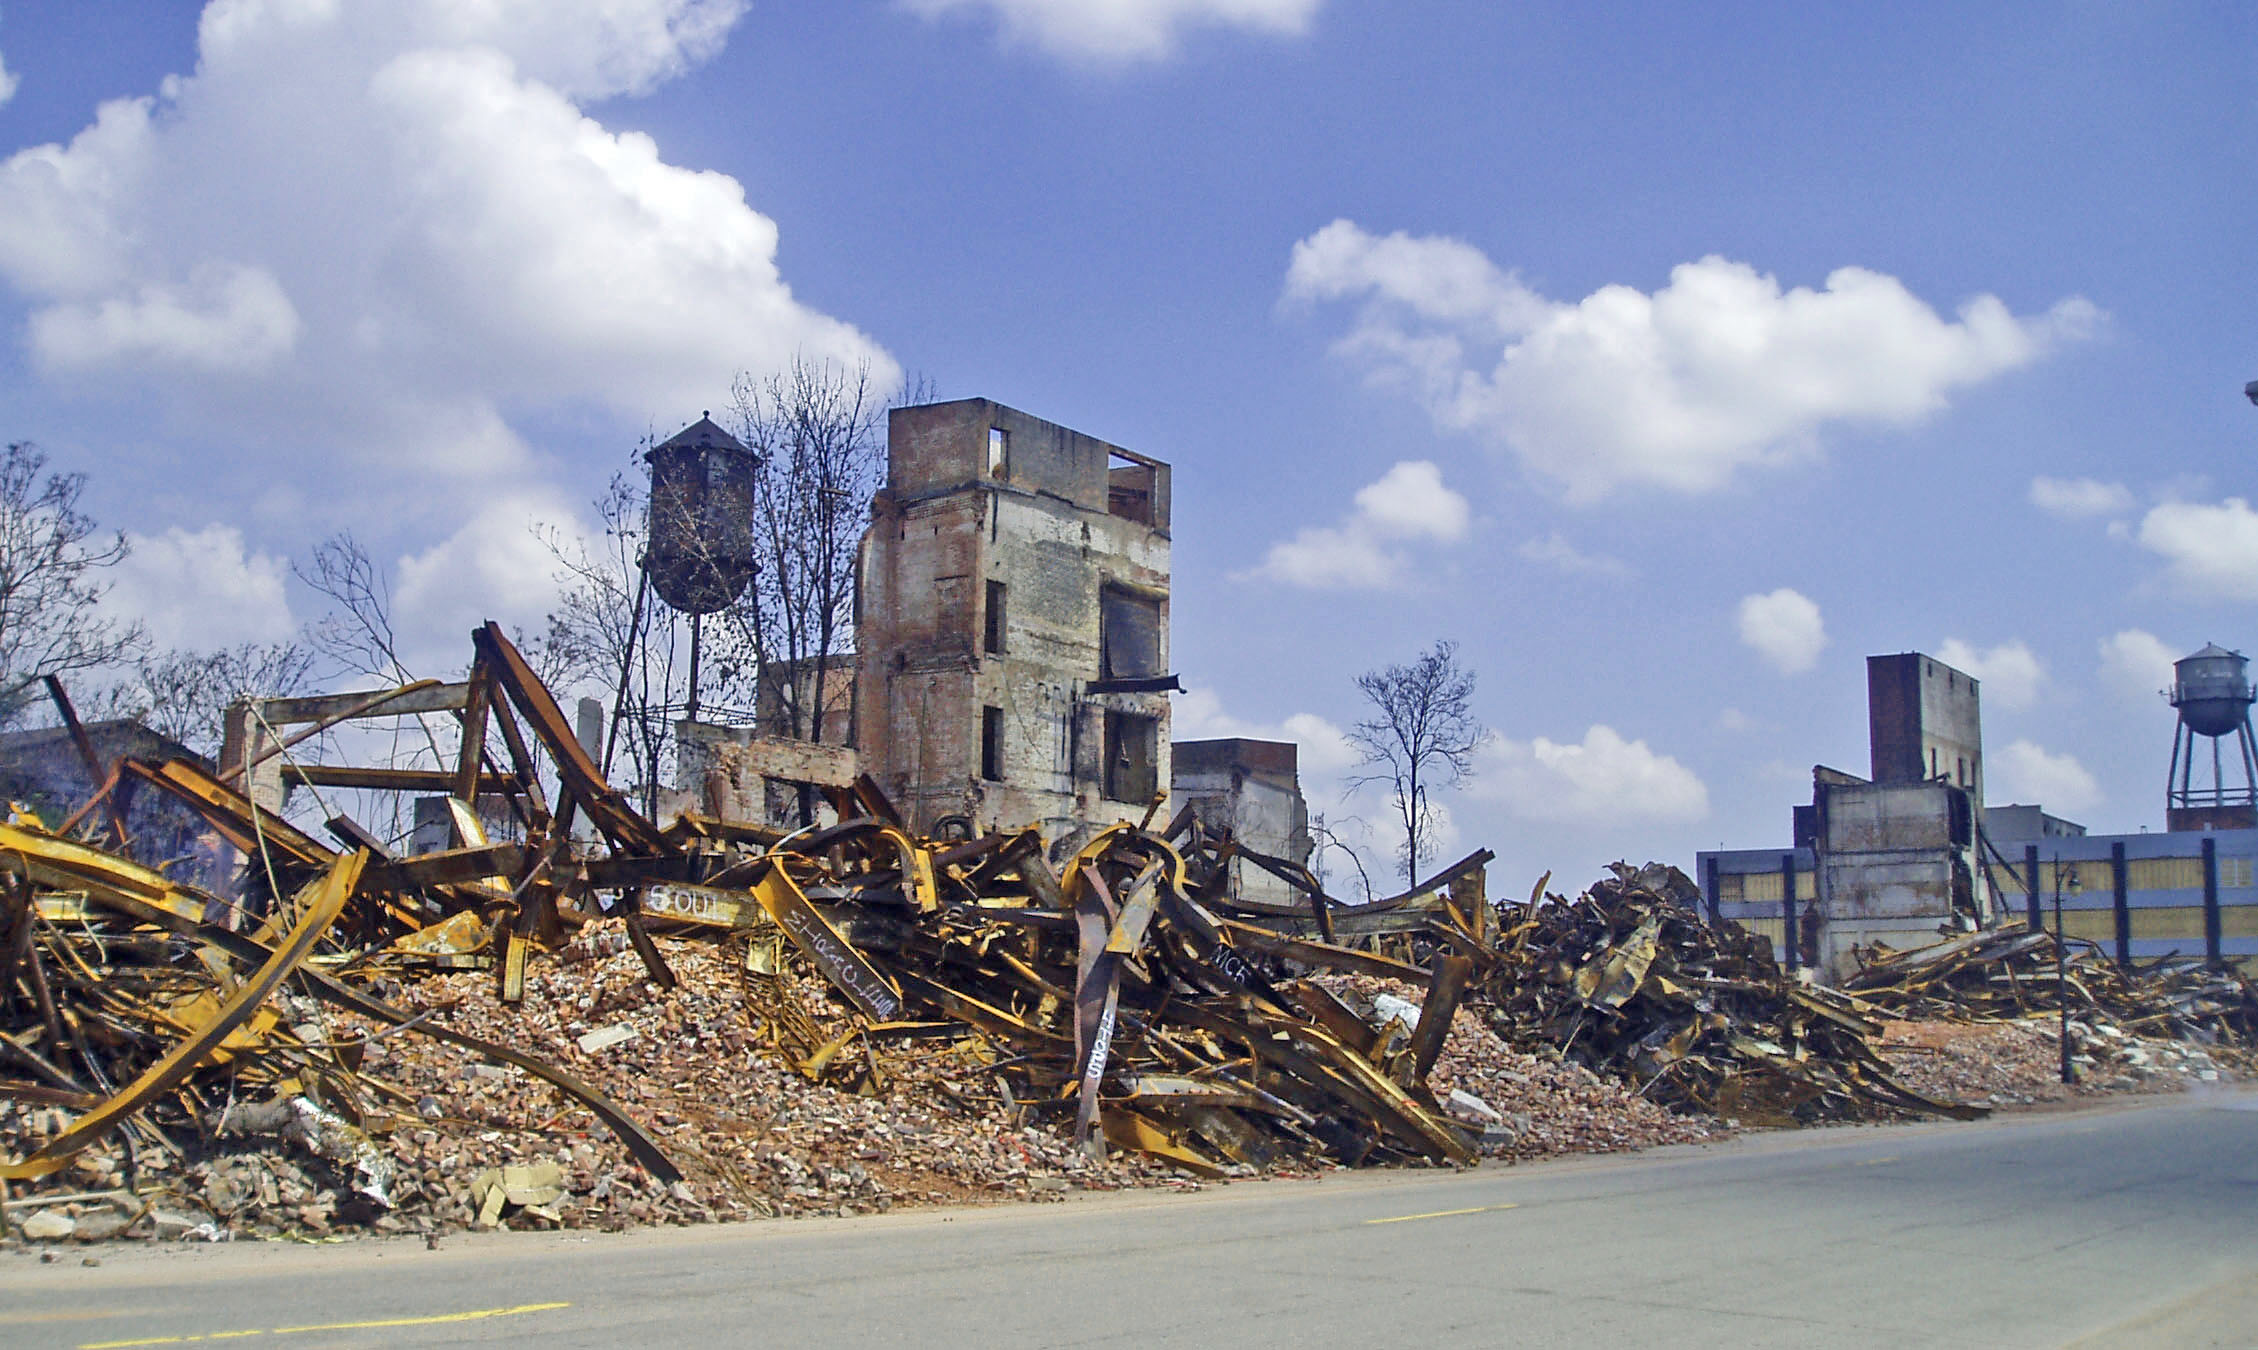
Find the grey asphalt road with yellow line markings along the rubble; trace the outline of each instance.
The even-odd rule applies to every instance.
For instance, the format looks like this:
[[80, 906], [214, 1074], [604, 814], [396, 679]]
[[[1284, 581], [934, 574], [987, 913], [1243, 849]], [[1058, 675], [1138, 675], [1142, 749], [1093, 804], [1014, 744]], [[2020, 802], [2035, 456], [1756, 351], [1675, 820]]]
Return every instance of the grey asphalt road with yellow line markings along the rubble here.
[[634, 1235], [0, 1257], [0, 1345], [2258, 1345], [2258, 1095]]

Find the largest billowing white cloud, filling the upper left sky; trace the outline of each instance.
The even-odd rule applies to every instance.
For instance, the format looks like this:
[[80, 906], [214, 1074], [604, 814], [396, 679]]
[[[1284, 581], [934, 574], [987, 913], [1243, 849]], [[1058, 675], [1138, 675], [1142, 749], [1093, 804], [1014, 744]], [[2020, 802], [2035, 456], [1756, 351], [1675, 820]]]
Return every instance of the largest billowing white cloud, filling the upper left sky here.
[[[400, 470], [515, 490], [513, 422], [680, 424], [795, 354], [892, 386], [793, 296], [734, 178], [589, 113], [743, 9], [212, 0], [192, 74], [0, 160], [0, 289], [59, 388], [142, 400], [309, 499]], [[467, 499], [397, 506], [452, 528]]]

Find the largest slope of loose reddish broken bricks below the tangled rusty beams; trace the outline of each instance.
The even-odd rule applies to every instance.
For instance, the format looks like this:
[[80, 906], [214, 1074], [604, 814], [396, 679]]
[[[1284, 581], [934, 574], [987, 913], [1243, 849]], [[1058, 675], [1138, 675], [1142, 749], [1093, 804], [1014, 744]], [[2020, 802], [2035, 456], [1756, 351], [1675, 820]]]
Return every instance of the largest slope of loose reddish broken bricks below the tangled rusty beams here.
[[[1136, 1154], [1093, 1158], [1054, 1129], [1025, 1122], [971, 1050], [971, 1038], [869, 1038], [813, 1081], [777, 1052], [774, 1018], [752, 1014], [736, 953], [659, 939], [677, 984], [653, 984], [632, 953], [558, 964], [504, 1005], [492, 980], [418, 982], [409, 1007], [445, 1007], [454, 1025], [555, 1047], [576, 1077], [650, 1122], [684, 1174], [653, 1187], [601, 1127], [526, 1075], [402, 1043], [373, 1063], [425, 1093], [436, 1120], [395, 1142], [400, 1192], [429, 1196], [438, 1226], [637, 1226], [781, 1215], [881, 1212], [901, 1203], [1036, 1196], [1174, 1178]], [[856, 1014], [804, 973], [786, 993], [820, 1029]], [[587, 1050], [583, 1045], [589, 1045]], [[492, 1217], [476, 1178], [524, 1158], [571, 1154], [562, 1196], [542, 1212], [508, 1201]]]

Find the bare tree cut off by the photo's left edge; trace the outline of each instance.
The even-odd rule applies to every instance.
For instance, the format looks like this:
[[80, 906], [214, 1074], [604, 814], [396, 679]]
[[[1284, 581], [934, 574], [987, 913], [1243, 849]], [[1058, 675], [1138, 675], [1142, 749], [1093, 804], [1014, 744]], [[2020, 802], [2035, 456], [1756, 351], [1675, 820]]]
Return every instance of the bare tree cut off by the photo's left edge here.
[[0, 727], [23, 720], [43, 675], [115, 666], [145, 646], [138, 623], [99, 612], [122, 531], [79, 510], [86, 474], [45, 474], [18, 440], [0, 456]]

